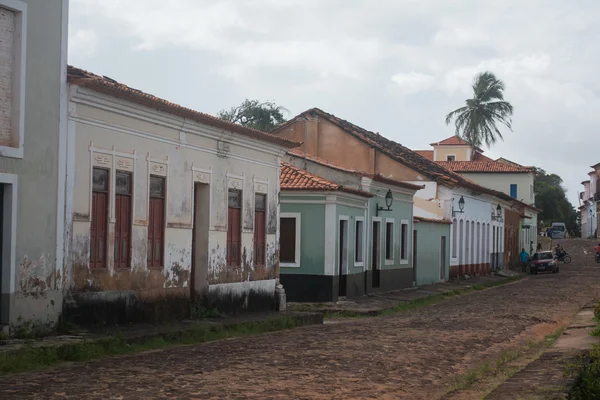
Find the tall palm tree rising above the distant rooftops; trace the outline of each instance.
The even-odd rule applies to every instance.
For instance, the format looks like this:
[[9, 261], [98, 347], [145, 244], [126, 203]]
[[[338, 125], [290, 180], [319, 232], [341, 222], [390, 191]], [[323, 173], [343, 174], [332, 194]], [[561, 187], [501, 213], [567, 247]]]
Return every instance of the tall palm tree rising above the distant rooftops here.
[[[473, 80], [473, 97], [446, 116], [446, 125], [454, 119], [456, 136], [467, 141], [475, 150], [483, 143], [490, 147], [503, 139], [498, 123], [512, 131], [513, 106], [504, 101], [504, 82], [489, 72], [478, 74]], [[473, 151], [475, 154], [475, 151]]]

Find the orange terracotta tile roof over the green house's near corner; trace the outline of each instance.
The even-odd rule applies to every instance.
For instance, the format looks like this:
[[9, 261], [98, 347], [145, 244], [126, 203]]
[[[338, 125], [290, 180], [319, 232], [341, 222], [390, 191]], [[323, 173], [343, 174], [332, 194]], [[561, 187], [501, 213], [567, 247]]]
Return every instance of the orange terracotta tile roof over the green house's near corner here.
[[374, 194], [347, 188], [337, 183], [328, 181], [318, 175], [311, 174], [303, 169], [282, 162], [279, 175], [281, 190], [312, 190], [312, 191], [341, 191], [357, 194], [363, 197], [374, 197]]

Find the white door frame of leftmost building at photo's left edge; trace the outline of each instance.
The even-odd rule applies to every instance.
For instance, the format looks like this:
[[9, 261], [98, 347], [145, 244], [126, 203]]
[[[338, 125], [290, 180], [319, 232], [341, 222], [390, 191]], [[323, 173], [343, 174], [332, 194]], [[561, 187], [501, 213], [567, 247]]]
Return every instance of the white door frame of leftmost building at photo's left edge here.
[[[10, 323], [10, 294], [15, 292], [18, 175], [0, 173], [0, 184], [4, 185], [2, 212], [2, 264], [0, 265], [0, 324]], [[58, 240], [58, 238], [57, 238]]]

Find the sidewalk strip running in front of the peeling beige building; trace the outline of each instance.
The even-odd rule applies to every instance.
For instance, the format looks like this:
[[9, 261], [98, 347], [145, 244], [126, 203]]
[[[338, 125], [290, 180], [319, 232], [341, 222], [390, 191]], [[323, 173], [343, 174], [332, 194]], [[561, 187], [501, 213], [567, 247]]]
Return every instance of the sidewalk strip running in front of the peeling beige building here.
[[39, 339], [6, 339], [0, 340], [0, 353], [18, 350], [24, 346], [33, 348], [73, 346], [81, 343], [97, 342], [119, 336], [127, 343], [136, 343], [155, 338], [183, 336], [200, 326], [222, 329], [235, 329], [243, 325], [258, 323], [287, 323], [290, 327], [315, 325], [323, 323], [323, 315], [307, 312], [268, 312], [231, 315], [223, 318], [206, 318], [198, 320], [175, 321], [164, 325], [132, 324], [104, 326], [81, 330], [69, 335], [46, 336]]

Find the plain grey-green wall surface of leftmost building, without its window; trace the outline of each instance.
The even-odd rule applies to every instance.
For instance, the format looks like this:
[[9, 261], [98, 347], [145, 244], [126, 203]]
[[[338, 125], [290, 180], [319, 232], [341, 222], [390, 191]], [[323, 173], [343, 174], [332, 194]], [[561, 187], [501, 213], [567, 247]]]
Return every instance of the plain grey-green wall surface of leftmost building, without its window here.
[[[23, 158], [0, 151], [0, 172], [15, 174], [15, 247], [5, 243], [0, 275], [0, 323], [52, 324], [62, 309], [61, 270], [57, 269], [61, 93], [66, 70], [66, 0], [24, 0], [27, 49]], [[19, 107], [13, 104], [13, 107]], [[5, 202], [6, 205], [6, 202]], [[5, 213], [8, 224], [10, 211]], [[8, 228], [10, 231], [10, 227]], [[6, 233], [6, 231], [5, 231]], [[10, 238], [4, 237], [7, 241]], [[60, 258], [62, 254], [58, 254]], [[14, 258], [13, 258], [14, 256]]]

